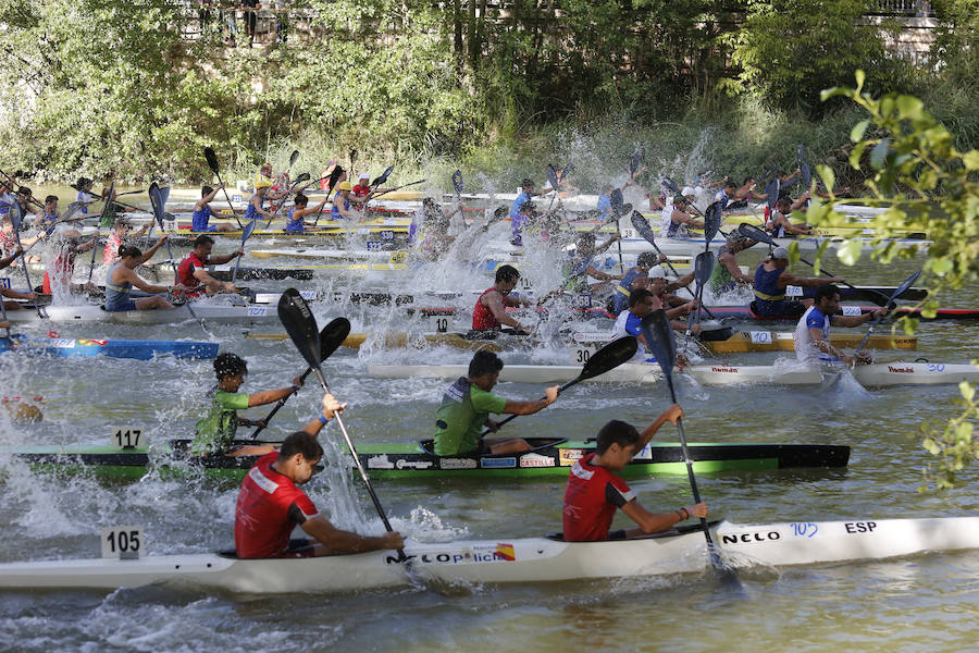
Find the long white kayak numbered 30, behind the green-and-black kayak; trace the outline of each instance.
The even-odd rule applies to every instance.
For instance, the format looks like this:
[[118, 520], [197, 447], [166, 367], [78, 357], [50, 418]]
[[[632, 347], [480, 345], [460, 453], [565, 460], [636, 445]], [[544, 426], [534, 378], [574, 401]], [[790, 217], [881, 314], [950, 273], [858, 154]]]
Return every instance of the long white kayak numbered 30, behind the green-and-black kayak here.
[[[820, 370], [803, 367], [795, 361], [783, 365], [692, 365], [679, 370], [693, 377], [703, 385], [770, 384], [770, 385], [819, 385], [833, 374], [848, 370], [848, 367]], [[464, 377], [468, 368], [463, 365], [371, 365], [368, 373], [382, 379], [410, 379], [427, 377], [435, 379], [458, 379]], [[573, 365], [508, 365], [500, 371], [500, 381], [515, 383], [567, 383], [577, 378], [581, 367]], [[879, 362], [862, 365], [852, 370], [854, 378], [863, 385], [938, 385], [942, 383], [979, 382], [979, 367], [942, 362]], [[655, 362], [627, 362], [588, 383], [629, 383], [649, 385], [662, 380], [662, 371]]]

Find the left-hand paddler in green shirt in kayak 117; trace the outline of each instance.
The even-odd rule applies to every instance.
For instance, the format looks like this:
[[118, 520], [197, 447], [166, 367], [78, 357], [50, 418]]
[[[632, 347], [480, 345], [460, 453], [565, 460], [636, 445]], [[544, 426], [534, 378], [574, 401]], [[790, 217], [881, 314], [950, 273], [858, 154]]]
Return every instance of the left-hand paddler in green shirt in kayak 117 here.
[[298, 392], [302, 387], [302, 379], [296, 377], [293, 384], [280, 390], [267, 390], [255, 394], [238, 394], [245, 383], [248, 366], [240, 356], [224, 353], [214, 358], [214, 373], [218, 375], [218, 387], [211, 409], [195, 426], [194, 442], [190, 451], [195, 456], [221, 454], [224, 456], [263, 456], [275, 451], [271, 444], [245, 445], [234, 447], [232, 442], [239, 426], [264, 427], [264, 420], [245, 419], [237, 411], [252, 406], [263, 406], [277, 402]]

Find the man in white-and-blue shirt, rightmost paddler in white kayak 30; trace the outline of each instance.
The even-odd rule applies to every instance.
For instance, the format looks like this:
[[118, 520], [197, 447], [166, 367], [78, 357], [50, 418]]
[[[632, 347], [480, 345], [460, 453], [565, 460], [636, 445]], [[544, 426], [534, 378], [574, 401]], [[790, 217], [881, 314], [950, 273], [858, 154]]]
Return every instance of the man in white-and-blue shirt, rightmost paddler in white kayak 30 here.
[[877, 317], [887, 316], [887, 307], [880, 307], [859, 316], [838, 316], [840, 308], [840, 288], [825, 285], [816, 288], [813, 306], [806, 309], [795, 325], [795, 357], [810, 367], [842, 360], [848, 366], [872, 362], [870, 355], [860, 352], [855, 356], [837, 349], [829, 341], [830, 325], [859, 326]]

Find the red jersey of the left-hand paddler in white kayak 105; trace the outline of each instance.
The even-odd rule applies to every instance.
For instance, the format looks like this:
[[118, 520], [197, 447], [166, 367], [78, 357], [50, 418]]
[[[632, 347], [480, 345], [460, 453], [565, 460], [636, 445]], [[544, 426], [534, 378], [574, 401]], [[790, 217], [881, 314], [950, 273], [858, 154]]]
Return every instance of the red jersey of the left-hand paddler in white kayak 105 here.
[[272, 469], [278, 454], [265, 454], [248, 470], [235, 504], [239, 558], [282, 557], [297, 525], [319, 512], [290, 478]]

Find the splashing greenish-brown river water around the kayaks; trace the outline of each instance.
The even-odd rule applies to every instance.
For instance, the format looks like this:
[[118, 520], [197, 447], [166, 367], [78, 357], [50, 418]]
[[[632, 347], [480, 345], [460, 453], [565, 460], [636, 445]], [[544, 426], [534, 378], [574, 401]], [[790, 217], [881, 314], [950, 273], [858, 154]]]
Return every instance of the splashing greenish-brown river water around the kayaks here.
[[[220, 252], [230, 245], [219, 244]], [[159, 257], [158, 257], [159, 258]], [[745, 264], [760, 255], [749, 252]], [[832, 260], [832, 259], [831, 259]], [[834, 262], [831, 269], [843, 270]], [[895, 284], [920, 261], [888, 268], [858, 263], [854, 283]], [[806, 273], [800, 264], [797, 273]], [[431, 272], [433, 275], [434, 271]], [[347, 278], [299, 282], [306, 287], [417, 288], [425, 279]], [[15, 280], [16, 282], [16, 280]], [[469, 283], [469, 281], [467, 281]], [[473, 281], [490, 285], [485, 280]], [[16, 283], [15, 283], [16, 285]], [[258, 284], [253, 284], [258, 285]], [[285, 287], [270, 282], [264, 287]], [[472, 287], [476, 287], [473, 285]], [[467, 299], [466, 303], [470, 301]], [[975, 289], [943, 306], [975, 306]], [[347, 315], [354, 331], [424, 330], [400, 309], [373, 311], [314, 304], [320, 324]], [[459, 324], [462, 321], [460, 320]], [[593, 325], [584, 325], [591, 329]], [[788, 329], [788, 324], [785, 329]], [[65, 337], [212, 340], [248, 359], [243, 391], [280, 387], [305, 369], [293, 345], [243, 337], [239, 326], [57, 324], [26, 329]], [[922, 324], [917, 353], [905, 358], [962, 362], [977, 355], [974, 326]], [[263, 328], [264, 331], [276, 331]], [[525, 362], [526, 355], [503, 355]], [[879, 353], [899, 359], [895, 352]], [[466, 362], [469, 354], [339, 349], [324, 366], [335, 395], [349, 402], [346, 426], [356, 442], [412, 442], [432, 433], [441, 393], [435, 380], [380, 380], [369, 362]], [[540, 362], [568, 361], [554, 350]], [[770, 362], [777, 355], [730, 360]], [[186, 436], [213, 385], [210, 361], [161, 358], [29, 359], [0, 356], [2, 395], [42, 397], [45, 419], [13, 424], [0, 411], [0, 446], [104, 444], [110, 427], [142, 428], [151, 441]], [[853, 382], [822, 387], [696, 387], [680, 382], [692, 440], [847, 444], [848, 468], [823, 471], [702, 475], [699, 490], [715, 518], [734, 522], [944, 517], [976, 513], [966, 485], [919, 494], [929, 456], [920, 426], [955, 412], [955, 386], [864, 390]], [[533, 398], [542, 387], [505, 383], [507, 397]], [[642, 428], [669, 402], [665, 385], [583, 385], [537, 416], [507, 427], [511, 435], [594, 435], [620, 418]], [[276, 416], [267, 434], [282, 438], [317, 414], [318, 391], [307, 386]], [[245, 415], [264, 415], [267, 408]], [[673, 441], [667, 424], [657, 440]], [[335, 426], [324, 429], [327, 460], [339, 455]], [[2, 460], [0, 456], [0, 464]], [[101, 528], [137, 523], [151, 554], [206, 552], [233, 539], [235, 484], [202, 478], [178, 481], [149, 473], [131, 483], [34, 475], [5, 465], [0, 482], [0, 560], [94, 557]], [[975, 480], [971, 472], [964, 480]], [[491, 482], [376, 482], [394, 527], [421, 540], [517, 538], [560, 529], [563, 479]], [[693, 503], [685, 477], [631, 482], [650, 508]], [[336, 469], [318, 475], [308, 492], [338, 526], [380, 532], [367, 492]], [[620, 515], [615, 528], [627, 526]], [[741, 572], [746, 596], [702, 575], [646, 579], [362, 592], [346, 595], [234, 595], [148, 588], [112, 593], [32, 591], [0, 593], [2, 651], [967, 651], [976, 649], [979, 553], [920, 555], [899, 560], [755, 568]]]

